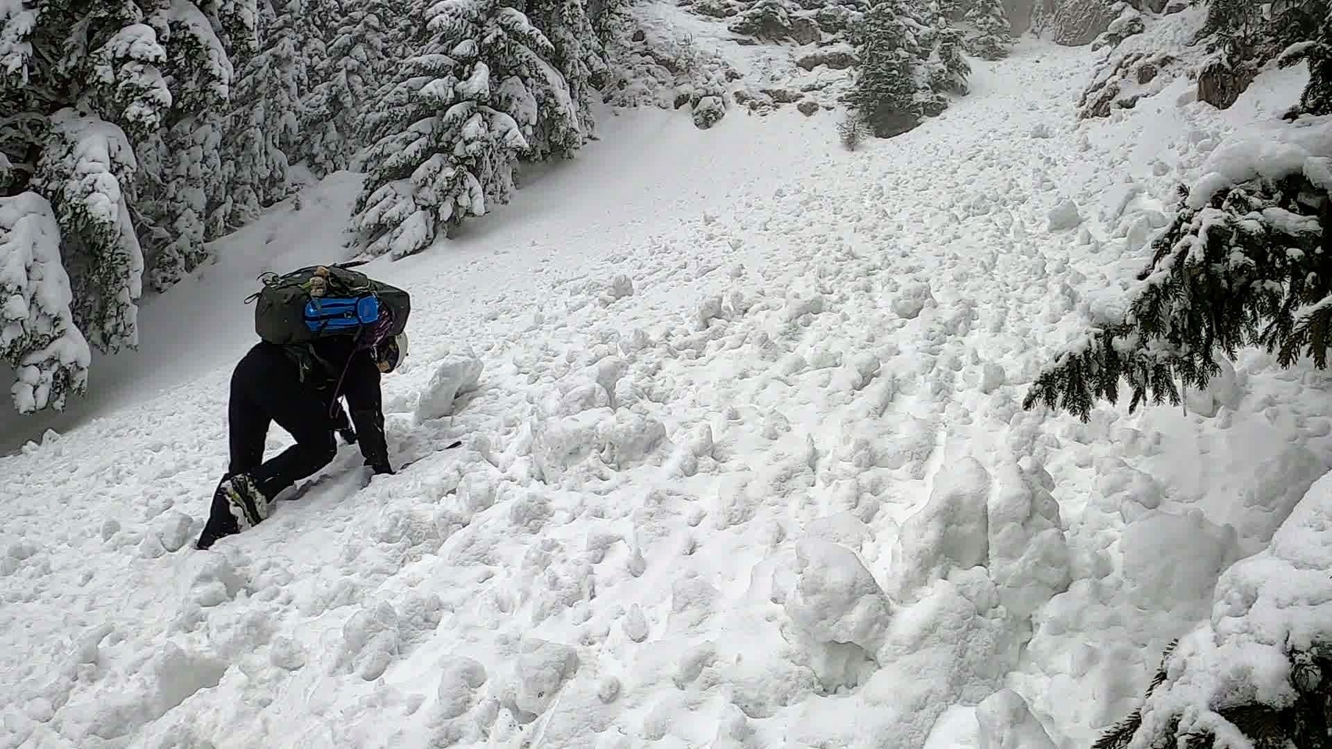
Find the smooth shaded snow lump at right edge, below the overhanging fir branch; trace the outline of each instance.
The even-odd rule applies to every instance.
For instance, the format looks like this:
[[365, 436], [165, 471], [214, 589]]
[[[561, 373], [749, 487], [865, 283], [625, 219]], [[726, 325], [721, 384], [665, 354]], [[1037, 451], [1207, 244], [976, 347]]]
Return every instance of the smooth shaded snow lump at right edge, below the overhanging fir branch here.
[[1287, 445], [1263, 461], [1240, 493], [1236, 526], [1247, 538], [1267, 542], [1291, 516], [1309, 486], [1332, 470], [1332, 460], [1304, 445]]

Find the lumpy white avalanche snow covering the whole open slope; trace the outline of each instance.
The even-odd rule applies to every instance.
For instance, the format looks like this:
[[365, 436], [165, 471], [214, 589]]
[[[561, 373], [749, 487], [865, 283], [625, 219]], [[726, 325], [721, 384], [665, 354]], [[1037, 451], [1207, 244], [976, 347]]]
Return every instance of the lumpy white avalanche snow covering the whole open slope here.
[[1245, 352], [1207, 413], [1019, 405], [1301, 72], [1079, 124], [1092, 63], [1026, 41], [854, 153], [827, 116], [599, 112], [579, 159], [366, 268], [413, 293], [384, 386], [417, 462], [365, 485], [344, 446], [197, 552], [242, 299], [344, 257], [358, 180], [269, 212], [144, 304], [99, 400], [7, 417], [0, 746], [1070, 749], [1199, 622], [1308, 636], [1327, 596], [1260, 581], [1327, 565], [1324, 373]]

